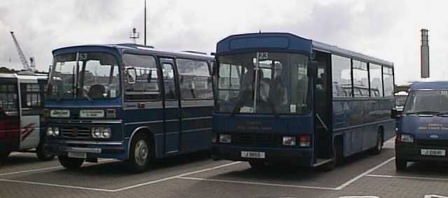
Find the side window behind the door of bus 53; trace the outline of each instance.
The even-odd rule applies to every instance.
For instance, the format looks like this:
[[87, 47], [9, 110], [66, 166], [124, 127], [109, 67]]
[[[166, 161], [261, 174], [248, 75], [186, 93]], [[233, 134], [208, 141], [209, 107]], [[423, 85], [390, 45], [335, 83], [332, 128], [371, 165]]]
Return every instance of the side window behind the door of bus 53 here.
[[209, 64], [193, 59], [176, 59], [181, 99], [213, 99]]

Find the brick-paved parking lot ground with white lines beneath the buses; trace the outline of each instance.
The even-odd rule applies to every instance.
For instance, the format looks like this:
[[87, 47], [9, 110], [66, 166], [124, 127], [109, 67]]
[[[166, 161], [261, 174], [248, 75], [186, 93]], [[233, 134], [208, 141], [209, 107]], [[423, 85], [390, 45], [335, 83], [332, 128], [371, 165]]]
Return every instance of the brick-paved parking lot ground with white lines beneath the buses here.
[[32, 153], [14, 153], [0, 167], [0, 197], [448, 197], [448, 164], [416, 163], [396, 172], [393, 157], [393, 141], [388, 141], [380, 155], [350, 157], [330, 172], [254, 171], [245, 162], [215, 162], [195, 154], [130, 174], [115, 160], [66, 171], [57, 160], [40, 162]]

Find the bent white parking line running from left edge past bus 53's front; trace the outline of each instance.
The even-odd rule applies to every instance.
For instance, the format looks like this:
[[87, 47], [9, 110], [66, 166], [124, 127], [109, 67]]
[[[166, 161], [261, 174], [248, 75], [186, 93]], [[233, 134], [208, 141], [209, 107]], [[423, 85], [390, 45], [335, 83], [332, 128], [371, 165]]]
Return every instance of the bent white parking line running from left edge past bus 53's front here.
[[0, 182], [4, 181], [4, 182], [10, 182], [10, 183], [44, 185], [44, 186], [51, 186], [51, 187], [57, 187], [57, 188], [70, 188], [70, 189], [77, 189], [77, 190], [92, 190], [92, 191], [101, 191], [101, 192], [120, 192], [120, 191], [123, 191], [123, 190], [130, 190], [132, 188], [139, 188], [139, 187], [144, 186], [144, 185], [160, 183], [162, 181], [168, 181], [168, 180], [172, 180], [174, 178], [188, 176], [188, 175], [191, 175], [191, 174], [202, 173], [204, 171], [211, 171], [211, 170], [214, 170], [214, 169], [221, 169], [223, 167], [229, 167], [229, 166], [232, 166], [234, 164], [239, 164], [239, 163], [241, 163], [241, 162], [231, 162], [231, 163], [228, 163], [228, 164], [219, 165], [217, 167], [211, 167], [211, 168], [208, 168], [208, 169], [201, 169], [201, 170], [198, 170], [198, 171], [188, 172], [186, 174], [180, 174], [180, 175], [177, 175], [177, 176], [171, 176], [171, 177], [162, 178], [162, 179], [159, 179], [159, 180], [156, 180], [156, 181], [149, 181], [149, 182], [146, 182], [146, 183], [139, 183], [137, 185], [130, 185], [130, 186], [127, 186], [125, 188], [118, 188], [118, 189], [113, 189], [113, 190], [102, 189], [102, 188], [87, 188], [87, 187], [76, 186], [76, 185], [59, 185], [59, 184], [53, 184], [53, 183], [40, 183], [40, 182], [32, 182], [32, 181], [17, 181], [17, 180], [9, 180], [9, 179], [0, 179]]

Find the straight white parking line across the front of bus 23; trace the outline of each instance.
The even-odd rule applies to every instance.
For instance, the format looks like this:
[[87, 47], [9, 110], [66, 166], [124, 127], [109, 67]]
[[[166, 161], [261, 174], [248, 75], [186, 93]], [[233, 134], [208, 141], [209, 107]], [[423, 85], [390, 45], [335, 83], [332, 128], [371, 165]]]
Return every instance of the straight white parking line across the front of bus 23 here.
[[337, 190], [336, 188], [327, 188], [327, 187], [319, 187], [319, 186], [310, 186], [310, 185], [288, 185], [288, 184], [279, 184], [279, 183], [263, 183], [263, 182], [252, 182], [252, 181], [235, 181], [235, 180], [221, 180], [221, 179], [210, 179], [210, 178], [192, 178], [192, 177], [179, 177], [181, 179], [188, 180], [196, 180], [196, 181], [214, 181], [221, 183], [239, 183], [239, 184], [249, 184], [249, 185], [267, 185], [267, 186], [275, 186], [275, 187], [286, 187], [286, 188], [309, 188], [309, 189], [318, 189], [318, 190]]

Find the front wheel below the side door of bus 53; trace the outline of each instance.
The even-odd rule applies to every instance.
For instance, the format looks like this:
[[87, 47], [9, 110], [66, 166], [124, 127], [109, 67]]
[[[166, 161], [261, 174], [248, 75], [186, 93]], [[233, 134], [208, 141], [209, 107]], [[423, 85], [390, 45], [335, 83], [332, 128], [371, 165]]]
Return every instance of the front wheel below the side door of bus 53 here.
[[130, 146], [130, 156], [126, 161], [127, 166], [134, 173], [146, 171], [151, 160], [151, 143], [144, 134], [137, 134], [132, 139]]

